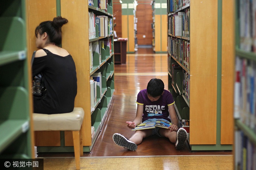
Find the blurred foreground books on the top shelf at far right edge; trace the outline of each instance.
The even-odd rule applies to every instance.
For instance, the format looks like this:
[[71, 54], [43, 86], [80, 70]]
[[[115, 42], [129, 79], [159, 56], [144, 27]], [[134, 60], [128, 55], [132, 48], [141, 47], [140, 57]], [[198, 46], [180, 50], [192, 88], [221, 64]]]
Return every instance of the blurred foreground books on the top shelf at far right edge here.
[[240, 48], [256, 53], [256, 0], [239, 2]]

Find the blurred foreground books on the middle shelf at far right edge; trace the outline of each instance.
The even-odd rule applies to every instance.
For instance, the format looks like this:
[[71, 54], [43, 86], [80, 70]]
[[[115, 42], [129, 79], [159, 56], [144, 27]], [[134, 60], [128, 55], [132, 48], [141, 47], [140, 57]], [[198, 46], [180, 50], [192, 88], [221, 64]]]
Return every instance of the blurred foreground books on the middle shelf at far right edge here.
[[234, 118], [256, 133], [256, 62], [236, 57]]

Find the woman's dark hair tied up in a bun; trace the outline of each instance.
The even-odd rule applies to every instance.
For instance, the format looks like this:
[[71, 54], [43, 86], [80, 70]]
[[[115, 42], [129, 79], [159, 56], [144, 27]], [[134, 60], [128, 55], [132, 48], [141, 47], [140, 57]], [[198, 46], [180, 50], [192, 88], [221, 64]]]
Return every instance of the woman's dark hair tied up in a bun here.
[[60, 45], [62, 41], [61, 27], [67, 23], [68, 20], [66, 18], [62, 18], [61, 16], [53, 18], [53, 21], [41, 22], [35, 29], [36, 37], [37, 33], [40, 35], [47, 33], [49, 36], [49, 42]]

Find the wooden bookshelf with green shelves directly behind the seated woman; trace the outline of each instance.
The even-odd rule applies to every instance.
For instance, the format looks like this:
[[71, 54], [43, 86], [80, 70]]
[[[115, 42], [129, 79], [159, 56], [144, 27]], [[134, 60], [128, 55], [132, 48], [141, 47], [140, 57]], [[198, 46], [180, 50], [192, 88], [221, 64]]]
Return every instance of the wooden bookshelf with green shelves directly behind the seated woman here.
[[[94, 5], [98, 5], [97, 2]], [[94, 12], [97, 16], [113, 17], [112, 1], [108, 1], [108, 12], [95, 6], [89, 6], [88, 1], [77, 0], [75, 2], [69, 0], [57, 1], [30, 1], [30, 29], [31, 39], [34, 37], [34, 29], [42, 21], [53, 20], [56, 16], [62, 16], [68, 19], [68, 24], [63, 25], [62, 47], [65, 48], [73, 57], [77, 71], [77, 96], [75, 98], [75, 107], [84, 109], [83, 122], [83, 145], [84, 152], [90, 152], [92, 146], [100, 133], [100, 129], [104, 123], [108, 108], [110, 107], [113, 91], [114, 91], [114, 55], [110, 48], [102, 49], [102, 61], [95, 60], [93, 69], [90, 69], [89, 44], [93, 41], [100, 41], [106, 38], [113, 39], [113, 34], [106, 37], [95, 37], [89, 39], [88, 12]], [[43, 12], [45, 15], [38, 15]], [[74, 12], [75, 11], [75, 12]], [[113, 30], [113, 28], [112, 28]], [[98, 30], [97, 30], [98, 31]], [[87, 41], [86, 41], [87, 40]], [[33, 46], [34, 41], [30, 41]], [[112, 49], [113, 41], [112, 41]], [[36, 49], [31, 48], [30, 51]], [[32, 53], [31, 53], [32, 54]], [[96, 57], [97, 58], [97, 57]], [[104, 88], [102, 96], [98, 95], [97, 103], [94, 105], [94, 111], [91, 111], [90, 105], [90, 76], [93, 73], [101, 72]], [[92, 138], [91, 127], [95, 128], [95, 135]], [[49, 136], [53, 136], [49, 138]], [[35, 145], [38, 146], [38, 152], [73, 152], [72, 133], [68, 131], [40, 131], [35, 133]]]

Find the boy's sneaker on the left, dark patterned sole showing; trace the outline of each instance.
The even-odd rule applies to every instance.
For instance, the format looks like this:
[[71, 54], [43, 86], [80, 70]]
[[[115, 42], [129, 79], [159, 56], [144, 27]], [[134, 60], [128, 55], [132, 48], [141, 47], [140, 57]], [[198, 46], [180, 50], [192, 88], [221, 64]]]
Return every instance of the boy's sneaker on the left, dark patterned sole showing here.
[[115, 133], [113, 135], [113, 141], [118, 146], [122, 146], [126, 149], [129, 149], [132, 151], [135, 151], [137, 149], [137, 145], [135, 143], [133, 143], [132, 141], [129, 141], [126, 137], [124, 137], [123, 135], [121, 135], [119, 133]]

